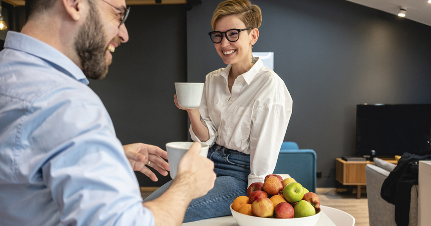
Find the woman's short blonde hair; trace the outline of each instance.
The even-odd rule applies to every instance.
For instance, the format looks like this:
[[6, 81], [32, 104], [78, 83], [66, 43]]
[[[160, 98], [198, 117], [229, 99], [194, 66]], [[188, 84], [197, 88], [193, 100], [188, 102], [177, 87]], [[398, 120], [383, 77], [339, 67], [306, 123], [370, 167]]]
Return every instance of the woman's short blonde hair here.
[[262, 23], [262, 13], [259, 6], [251, 4], [249, 0], [226, 0], [218, 4], [214, 11], [211, 20], [213, 30], [216, 30], [217, 20], [228, 15], [237, 15], [246, 28], [259, 28]]

